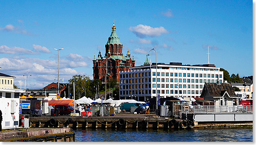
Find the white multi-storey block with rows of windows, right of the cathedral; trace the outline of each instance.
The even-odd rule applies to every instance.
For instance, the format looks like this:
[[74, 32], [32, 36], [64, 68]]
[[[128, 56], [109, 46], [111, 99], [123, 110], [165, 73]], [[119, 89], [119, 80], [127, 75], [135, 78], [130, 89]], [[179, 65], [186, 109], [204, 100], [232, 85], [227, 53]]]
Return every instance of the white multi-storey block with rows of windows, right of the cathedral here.
[[204, 83], [223, 83], [223, 71], [214, 64], [182, 65], [182, 63], [150, 65], [147, 62], [130, 71], [119, 72], [119, 98], [147, 101], [156, 97], [199, 97]]

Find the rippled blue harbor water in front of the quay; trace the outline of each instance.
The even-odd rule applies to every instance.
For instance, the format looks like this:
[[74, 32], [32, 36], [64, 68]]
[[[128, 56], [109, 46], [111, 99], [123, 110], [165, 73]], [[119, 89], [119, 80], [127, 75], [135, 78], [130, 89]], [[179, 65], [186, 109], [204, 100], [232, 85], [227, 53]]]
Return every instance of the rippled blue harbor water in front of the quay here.
[[76, 142], [252, 142], [253, 129], [74, 130]]

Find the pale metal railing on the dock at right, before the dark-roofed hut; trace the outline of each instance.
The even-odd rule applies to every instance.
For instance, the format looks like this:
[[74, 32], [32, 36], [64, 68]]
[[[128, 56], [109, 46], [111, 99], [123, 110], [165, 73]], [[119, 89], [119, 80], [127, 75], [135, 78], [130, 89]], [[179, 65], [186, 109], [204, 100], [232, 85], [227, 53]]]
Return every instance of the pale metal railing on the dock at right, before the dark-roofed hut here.
[[222, 114], [222, 113], [253, 113], [253, 106], [189, 106], [188, 104], [175, 103], [173, 115], [180, 116], [182, 113], [188, 114]]

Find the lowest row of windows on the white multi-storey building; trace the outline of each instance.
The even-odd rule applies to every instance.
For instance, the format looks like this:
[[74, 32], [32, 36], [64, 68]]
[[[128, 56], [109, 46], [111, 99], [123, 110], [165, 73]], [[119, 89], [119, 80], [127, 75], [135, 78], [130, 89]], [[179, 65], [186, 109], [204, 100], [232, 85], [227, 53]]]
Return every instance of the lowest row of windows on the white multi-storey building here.
[[[157, 90], [157, 94], [202, 94], [202, 90]], [[147, 95], [150, 94], [150, 90], [126, 90], [120, 91], [120, 95]], [[153, 90], [153, 94], [156, 94], [156, 90]]]

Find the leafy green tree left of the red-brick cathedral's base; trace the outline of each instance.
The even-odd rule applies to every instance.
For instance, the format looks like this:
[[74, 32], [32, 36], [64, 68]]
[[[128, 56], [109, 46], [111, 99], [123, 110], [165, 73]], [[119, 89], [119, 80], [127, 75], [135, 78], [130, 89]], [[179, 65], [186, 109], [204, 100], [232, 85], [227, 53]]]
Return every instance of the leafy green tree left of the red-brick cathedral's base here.
[[85, 91], [86, 94], [90, 94], [89, 86], [90, 86], [90, 78], [86, 75], [75, 75], [70, 80], [70, 92], [74, 94], [74, 82], [75, 82], [75, 97], [76, 100], [84, 96]]

